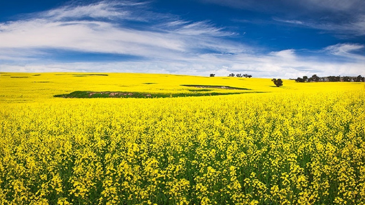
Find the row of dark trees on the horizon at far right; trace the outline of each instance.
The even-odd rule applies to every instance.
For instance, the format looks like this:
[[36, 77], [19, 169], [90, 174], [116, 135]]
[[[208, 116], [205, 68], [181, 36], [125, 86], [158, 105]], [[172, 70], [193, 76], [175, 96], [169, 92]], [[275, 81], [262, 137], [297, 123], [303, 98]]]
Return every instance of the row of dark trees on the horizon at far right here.
[[[293, 79], [291, 79], [293, 80]], [[303, 76], [303, 78], [298, 77], [295, 82], [365, 82], [365, 77], [358, 75], [357, 77], [350, 76], [328, 76], [328, 77], [318, 77], [314, 74], [312, 77]]]

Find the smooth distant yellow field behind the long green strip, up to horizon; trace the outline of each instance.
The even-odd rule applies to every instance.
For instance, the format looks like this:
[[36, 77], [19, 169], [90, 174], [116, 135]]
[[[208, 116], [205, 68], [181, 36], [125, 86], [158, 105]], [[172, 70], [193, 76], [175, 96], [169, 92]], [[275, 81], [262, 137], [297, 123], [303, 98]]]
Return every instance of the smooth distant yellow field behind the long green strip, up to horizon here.
[[[249, 90], [206, 89], [182, 85], [218, 85]], [[364, 90], [363, 83], [296, 83], [284, 80], [277, 88], [270, 79], [238, 77], [199, 77], [139, 73], [0, 73], [0, 102], [54, 100], [54, 95], [74, 91], [146, 93], [232, 93], [232, 92], [320, 92]], [[203, 91], [200, 91], [203, 90]], [[206, 91], [209, 90], [209, 91]]]

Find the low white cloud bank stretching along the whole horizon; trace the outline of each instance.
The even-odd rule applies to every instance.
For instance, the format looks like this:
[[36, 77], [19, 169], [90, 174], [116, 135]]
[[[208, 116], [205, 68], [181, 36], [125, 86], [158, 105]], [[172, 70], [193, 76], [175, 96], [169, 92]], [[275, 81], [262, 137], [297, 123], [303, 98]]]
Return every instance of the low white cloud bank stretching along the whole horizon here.
[[[2, 65], [1, 71], [50, 72], [136, 72], [136, 73], [171, 73], [198, 76], [227, 76], [230, 73], [247, 73], [254, 77], [296, 78], [299, 76], [347, 75], [365, 76], [364, 63], [326, 62], [308, 60], [299, 57], [293, 51], [278, 51], [266, 55], [249, 54], [201, 54], [196, 57], [178, 59], [154, 59], [145, 62], [79, 62], [79, 63], [46, 63], [27, 65]], [[293, 56], [294, 55], [294, 56]], [[289, 58], [288, 58], [289, 57]]]

